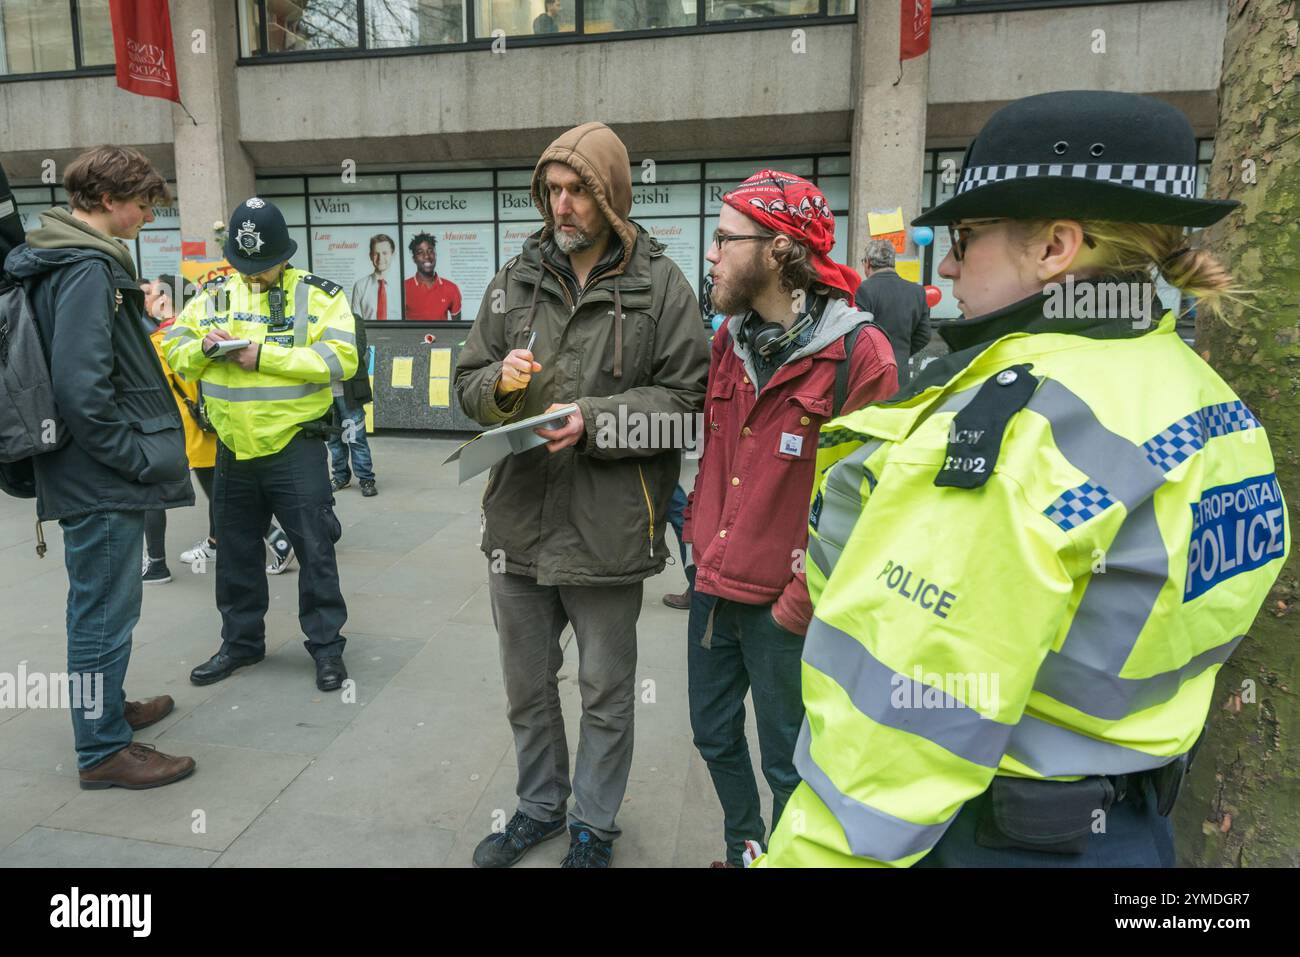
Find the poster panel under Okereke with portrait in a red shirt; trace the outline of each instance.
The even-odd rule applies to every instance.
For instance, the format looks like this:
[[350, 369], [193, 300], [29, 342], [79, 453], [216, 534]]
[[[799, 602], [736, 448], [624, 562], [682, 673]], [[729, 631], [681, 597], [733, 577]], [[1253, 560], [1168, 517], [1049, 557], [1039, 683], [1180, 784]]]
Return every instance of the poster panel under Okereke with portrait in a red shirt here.
[[403, 226], [402, 273], [406, 319], [448, 319], [459, 303], [460, 319], [472, 320], [497, 273], [495, 228], [490, 222]]

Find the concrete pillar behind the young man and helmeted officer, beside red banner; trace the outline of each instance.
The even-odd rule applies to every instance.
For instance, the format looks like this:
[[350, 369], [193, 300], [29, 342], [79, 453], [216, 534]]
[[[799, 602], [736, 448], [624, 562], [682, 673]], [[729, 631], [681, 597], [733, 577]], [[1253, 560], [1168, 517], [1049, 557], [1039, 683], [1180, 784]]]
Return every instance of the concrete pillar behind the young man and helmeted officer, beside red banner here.
[[[203, 31], [203, 52], [195, 52], [195, 30]], [[198, 121], [172, 107], [181, 235], [207, 239], [209, 254], [218, 256], [212, 224], [225, 222], [235, 204], [254, 195], [252, 159], [239, 142], [235, 4], [173, 0], [172, 36], [181, 99]]]

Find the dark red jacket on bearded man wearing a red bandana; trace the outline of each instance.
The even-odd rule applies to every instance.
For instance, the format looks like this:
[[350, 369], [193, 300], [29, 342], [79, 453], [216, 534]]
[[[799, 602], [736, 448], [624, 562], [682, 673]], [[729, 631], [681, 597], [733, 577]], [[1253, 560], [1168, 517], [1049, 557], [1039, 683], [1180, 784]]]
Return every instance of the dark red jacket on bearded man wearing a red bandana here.
[[[818, 433], [831, 417], [844, 332], [864, 317], [846, 303], [828, 304], [809, 345], [812, 351], [786, 360], [762, 395], [737, 355], [729, 319], [714, 337], [705, 445], [684, 532], [692, 542], [696, 588], [746, 605], [775, 602], [776, 623], [796, 635], [812, 618], [802, 559]], [[897, 389], [888, 337], [875, 325], [863, 326], [841, 415]]]

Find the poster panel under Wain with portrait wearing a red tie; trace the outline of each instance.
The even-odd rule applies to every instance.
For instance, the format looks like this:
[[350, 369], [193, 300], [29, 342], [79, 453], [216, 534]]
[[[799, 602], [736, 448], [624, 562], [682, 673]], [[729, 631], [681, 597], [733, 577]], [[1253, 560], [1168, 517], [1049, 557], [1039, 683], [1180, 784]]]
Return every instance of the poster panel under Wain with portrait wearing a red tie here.
[[[343, 287], [364, 320], [400, 319], [398, 226], [313, 225], [312, 272]], [[380, 298], [382, 282], [382, 302]], [[382, 307], [384, 315], [380, 315]]]

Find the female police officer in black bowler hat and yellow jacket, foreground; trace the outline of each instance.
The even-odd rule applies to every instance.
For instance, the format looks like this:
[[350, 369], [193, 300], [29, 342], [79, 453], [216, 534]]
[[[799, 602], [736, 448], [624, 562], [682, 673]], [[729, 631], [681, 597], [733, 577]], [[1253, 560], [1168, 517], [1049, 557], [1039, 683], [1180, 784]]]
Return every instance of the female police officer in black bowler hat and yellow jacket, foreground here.
[[1214, 675], [1284, 560], [1260, 423], [1175, 333], [1213, 309], [1173, 107], [1031, 96], [966, 152], [940, 273], [967, 317], [829, 424], [802, 776], [770, 866], [1169, 866]]

